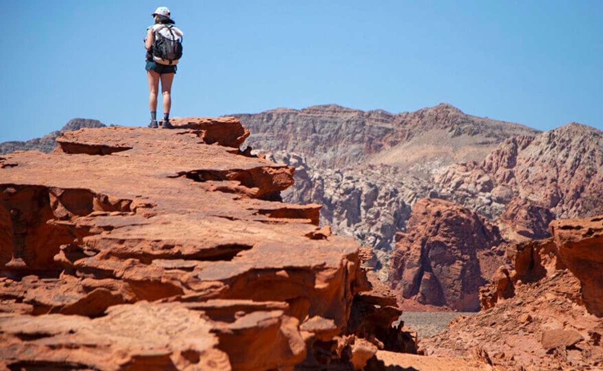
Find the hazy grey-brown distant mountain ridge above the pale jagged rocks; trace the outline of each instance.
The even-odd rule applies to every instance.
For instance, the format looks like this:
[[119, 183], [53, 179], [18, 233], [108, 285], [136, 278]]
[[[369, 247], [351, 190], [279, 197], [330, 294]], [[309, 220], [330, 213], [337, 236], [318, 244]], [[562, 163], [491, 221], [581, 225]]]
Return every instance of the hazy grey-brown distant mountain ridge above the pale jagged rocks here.
[[[402, 156], [414, 156], [416, 162], [420, 154], [425, 155], [423, 162], [444, 166], [482, 159], [511, 136], [539, 133], [521, 124], [467, 115], [447, 103], [400, 114], [320, 105], [233, 116], [251, 130], [248, 143], [254, 149], [303, 153], [312, 167], [364, 167], [367, 162], [405, 168]], [[446, 143], [435, 150], [434, 138]], [[421, 170], [425, 166], [414, 168], [418, 175], [429, 176]]]

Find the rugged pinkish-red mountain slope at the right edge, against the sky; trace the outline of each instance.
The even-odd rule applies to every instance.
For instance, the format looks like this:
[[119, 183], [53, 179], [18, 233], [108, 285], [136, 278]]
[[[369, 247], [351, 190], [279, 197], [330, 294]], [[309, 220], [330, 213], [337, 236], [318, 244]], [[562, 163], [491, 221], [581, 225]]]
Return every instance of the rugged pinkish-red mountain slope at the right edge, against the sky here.
[[603, 132], [571, 123], [511, 138], [434, 181], [441, 197], [498, 221], [508, 239], [545, 238], [553, 219], [603, 213]]

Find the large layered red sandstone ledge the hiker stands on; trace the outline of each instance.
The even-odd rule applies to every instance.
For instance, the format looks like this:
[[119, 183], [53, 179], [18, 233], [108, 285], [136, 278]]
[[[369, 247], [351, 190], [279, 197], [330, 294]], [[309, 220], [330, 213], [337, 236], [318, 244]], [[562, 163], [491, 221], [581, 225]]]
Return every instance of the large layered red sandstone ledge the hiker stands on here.
[[318, 229], [320, 205], [280, 202], [294, 168], [241, 152], [236, 118], [172, 123], [0, 157], [3, 367], [362, 367], [415, 351], [353, 239]]

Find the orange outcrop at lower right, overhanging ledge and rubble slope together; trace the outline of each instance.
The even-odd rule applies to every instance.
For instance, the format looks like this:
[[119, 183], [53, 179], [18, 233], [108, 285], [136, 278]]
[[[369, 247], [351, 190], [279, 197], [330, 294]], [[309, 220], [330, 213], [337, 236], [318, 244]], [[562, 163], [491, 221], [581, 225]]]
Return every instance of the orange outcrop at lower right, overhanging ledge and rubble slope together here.
[[514, 269], [500, 268], [482, 288], [484, 309], [425, 340], [428, 353], [467, 356], [479, 348], [506, 369], [603, 366], [603, 216], [557, 220], [551, 233], [511, 245]]

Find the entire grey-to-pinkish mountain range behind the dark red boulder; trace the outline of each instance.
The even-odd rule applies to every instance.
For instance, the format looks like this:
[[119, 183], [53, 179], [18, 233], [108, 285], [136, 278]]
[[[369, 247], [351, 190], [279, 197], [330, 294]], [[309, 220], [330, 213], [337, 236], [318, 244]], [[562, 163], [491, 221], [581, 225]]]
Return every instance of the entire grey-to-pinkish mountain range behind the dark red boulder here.
[[388, 267], [396, 233], [420, 233], [408, 222], [421, 198], [449, 200], [487, 218], [501, 243], [545, 238], [555, 218], [603, 212], [603, 133], [592, 127], [572, 123], [540, 133], [446, 104], [398, 115], [315, 106], [240, 117], [260, 132], [252, 147], [302, 169], [285, 200], [324, 204], [321, 222], [374, 248], [382, 280], [394, 274]]

